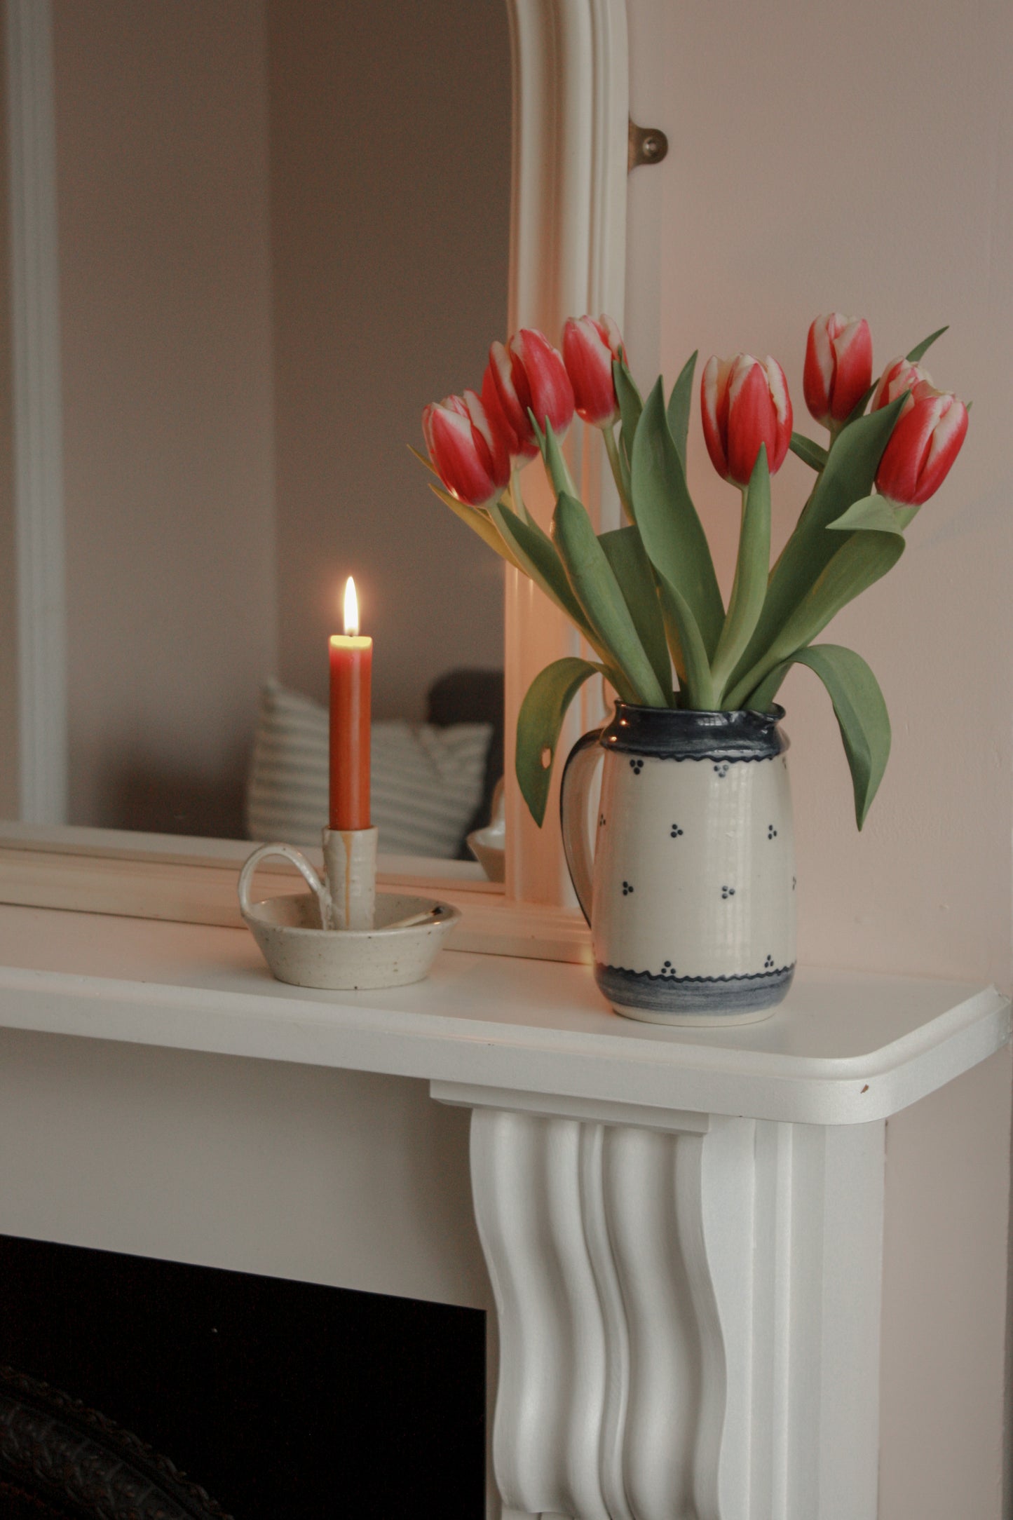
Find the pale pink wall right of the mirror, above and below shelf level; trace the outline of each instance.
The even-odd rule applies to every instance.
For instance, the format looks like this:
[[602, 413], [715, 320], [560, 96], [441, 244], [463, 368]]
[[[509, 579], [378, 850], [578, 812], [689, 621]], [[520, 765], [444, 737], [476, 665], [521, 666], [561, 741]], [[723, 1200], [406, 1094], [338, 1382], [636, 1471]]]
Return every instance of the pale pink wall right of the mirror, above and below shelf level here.
[[[775, 354], [796, 426], [809, 321], [869, 318], [878, 363], [974, 400], [964, 451], [898, 568], [828, 638], [873, 666], [893, 755], [866, 830], [826, 696], [784, 687], [802, 959], [1010, 986], [1013, 119], [1005, 0], [630, 0], [633, 114], [670, 134], [630, 184], [641, 378], [699, 347]], [[694, 413], [690, 474], [727, 585], [738, 497]], [[779, 538], [811, 480], [775, 483]], [[1001, 1512], [1010, 1062], [890, 1126], [882, 1520]]]

